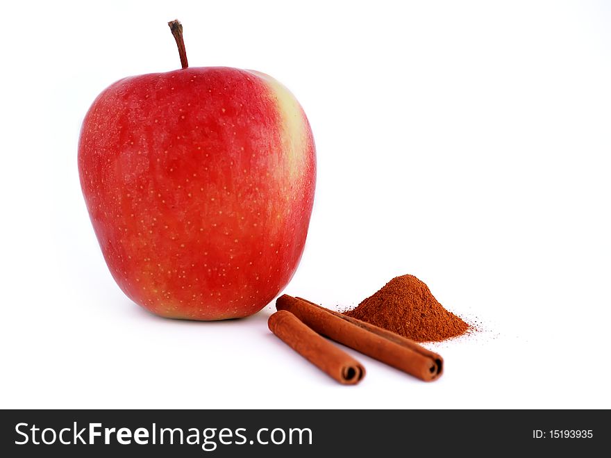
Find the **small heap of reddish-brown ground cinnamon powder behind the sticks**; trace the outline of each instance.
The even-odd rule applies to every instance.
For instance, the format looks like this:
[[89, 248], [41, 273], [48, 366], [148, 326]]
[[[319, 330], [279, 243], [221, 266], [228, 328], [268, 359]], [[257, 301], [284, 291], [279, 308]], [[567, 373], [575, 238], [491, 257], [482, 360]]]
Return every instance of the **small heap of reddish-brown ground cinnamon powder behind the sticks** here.
[[344, 315], [417, 342], [444, 341], [469, 330], [466, 322], [444, 309], [428, 286], [413, 275], [392, 279]]

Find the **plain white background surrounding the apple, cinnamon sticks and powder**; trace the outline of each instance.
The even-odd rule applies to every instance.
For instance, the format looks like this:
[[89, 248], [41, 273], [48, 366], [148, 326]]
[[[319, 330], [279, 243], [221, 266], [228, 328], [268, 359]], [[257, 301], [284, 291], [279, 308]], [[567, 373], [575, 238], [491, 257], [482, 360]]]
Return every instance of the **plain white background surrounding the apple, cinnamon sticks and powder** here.
[[[3, 3], [0, 407], [611, 407], [611, 6], [603, 1]], [[425, 384], [355, 354], [340, 386], [245, 320], [151, 316], [110, 277], [78, 131], [123, 76], [267, 72], [318, 183], [285, 292], [353, 306], [424, 280], [483, 331]]]

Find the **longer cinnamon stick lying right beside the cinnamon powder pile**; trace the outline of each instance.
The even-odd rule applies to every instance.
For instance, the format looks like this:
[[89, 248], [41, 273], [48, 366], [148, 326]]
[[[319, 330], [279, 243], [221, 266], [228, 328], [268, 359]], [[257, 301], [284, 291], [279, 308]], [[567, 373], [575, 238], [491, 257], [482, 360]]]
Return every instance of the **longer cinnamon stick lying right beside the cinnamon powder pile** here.
[[278, 297], [276, 309], [290, 311], [315, 332], [425, 382], [442, 375], [443, 359], [439, 354], [394, 332], [325, 309], [301, 297]]

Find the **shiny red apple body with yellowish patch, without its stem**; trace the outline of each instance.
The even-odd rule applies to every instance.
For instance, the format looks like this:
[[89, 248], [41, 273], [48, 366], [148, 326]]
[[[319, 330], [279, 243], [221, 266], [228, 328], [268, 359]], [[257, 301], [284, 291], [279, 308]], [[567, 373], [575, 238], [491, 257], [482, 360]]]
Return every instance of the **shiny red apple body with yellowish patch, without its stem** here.
[[299, 102], [266, 74], [187, 67], [117, 81], [85, 116], [78, 172], [112, 277], [157, 315], [249, 316], [299, 264], [315, 145]]

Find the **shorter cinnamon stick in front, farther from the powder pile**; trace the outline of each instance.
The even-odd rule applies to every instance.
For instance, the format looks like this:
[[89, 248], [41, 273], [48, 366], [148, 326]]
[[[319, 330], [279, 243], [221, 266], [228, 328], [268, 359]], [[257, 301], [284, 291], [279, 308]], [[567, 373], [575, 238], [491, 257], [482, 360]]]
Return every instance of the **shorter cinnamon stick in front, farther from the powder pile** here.
[[337, 382], [354, 385], [365, 377], [365, 368], [358, 361], [312, 331], [292, 313], [277, 311], [269, 317], [267, 326], [284, 343]]

